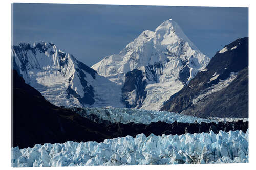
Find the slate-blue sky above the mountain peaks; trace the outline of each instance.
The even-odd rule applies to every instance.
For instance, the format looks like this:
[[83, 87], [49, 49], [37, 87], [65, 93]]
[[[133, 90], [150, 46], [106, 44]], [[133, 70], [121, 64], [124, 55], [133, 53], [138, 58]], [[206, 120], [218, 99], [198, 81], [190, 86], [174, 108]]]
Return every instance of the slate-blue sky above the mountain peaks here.
[[248, 36], [248, 8], [15, 3], [13, 42], [53, 42], [92, 66], [169, 18], [210, 58]]

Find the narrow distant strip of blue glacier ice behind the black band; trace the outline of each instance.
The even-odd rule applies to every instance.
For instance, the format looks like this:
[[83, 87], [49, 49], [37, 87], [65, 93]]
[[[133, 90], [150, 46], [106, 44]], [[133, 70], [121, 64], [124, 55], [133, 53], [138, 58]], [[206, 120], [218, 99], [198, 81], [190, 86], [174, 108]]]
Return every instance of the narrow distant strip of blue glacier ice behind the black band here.
[[78, 113], [79, 115], [89, 118], [91, 115], [96, 115], [102, 120], [108, 120], [112, 123], [120, 122], [120, 123], [143, 123], [150, 124], [151, 122], [184, 122], [184, 123], [194, 123], [195, 121], [198, 123], [205, 122], [232, 122], [243, 120], [248, 121], [248, 118], [219, 118], [219, 117], [211, 117], [211, 118], [198, 118], [193, 116], [182, 115], [178, 113], [168, 112], [168, 111], [150, 111], [143, 109], [129, 109], [129, 108], [114, 108], [114, 107], [105, 107], [105, 108], [83, 108], [76, 109], [73, 108], [73, 111]]

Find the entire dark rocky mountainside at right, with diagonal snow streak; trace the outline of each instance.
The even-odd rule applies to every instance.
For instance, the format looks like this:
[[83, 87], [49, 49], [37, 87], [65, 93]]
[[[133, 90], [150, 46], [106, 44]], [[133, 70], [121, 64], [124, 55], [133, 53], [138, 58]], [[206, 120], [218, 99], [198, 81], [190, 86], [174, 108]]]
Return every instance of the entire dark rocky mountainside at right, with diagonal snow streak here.
[[198, 117], [248, 117], [248, 37], [217, 52], [161, 110]]

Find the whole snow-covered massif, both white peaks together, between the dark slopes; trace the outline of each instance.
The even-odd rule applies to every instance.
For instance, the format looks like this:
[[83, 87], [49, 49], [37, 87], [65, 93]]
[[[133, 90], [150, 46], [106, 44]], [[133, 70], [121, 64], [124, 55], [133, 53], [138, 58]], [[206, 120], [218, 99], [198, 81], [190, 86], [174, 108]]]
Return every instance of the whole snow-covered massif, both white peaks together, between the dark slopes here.
[[160, 109], [209, 62], [173, 20], [91, 68], [45, 41], [13, 46], [12, 56], [25, 82], [55, 105], [147, 110]]

